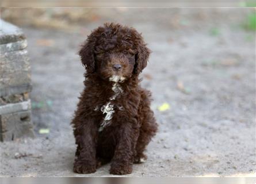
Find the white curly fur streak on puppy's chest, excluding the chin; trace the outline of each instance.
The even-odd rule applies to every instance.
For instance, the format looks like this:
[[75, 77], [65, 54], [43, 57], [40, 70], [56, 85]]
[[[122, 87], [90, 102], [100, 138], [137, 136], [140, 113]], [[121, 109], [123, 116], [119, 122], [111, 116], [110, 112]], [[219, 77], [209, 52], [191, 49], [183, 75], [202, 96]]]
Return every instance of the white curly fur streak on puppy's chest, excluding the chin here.
[[116, 110], [124, 110], [123, 106], [115, 102], [115, 99], [123, 93], [123, 89], [118, 82], [113, 83], [112, 91], [114, 92], [113, 95], [108, 98], [108, 101], [104, 105], [97, 105], [94, 108], [94, 111], [101, 112], [103, 115], [100, 128], [98, 129], [99, 132], [103, 131], [107, 125], [111, 124]]

